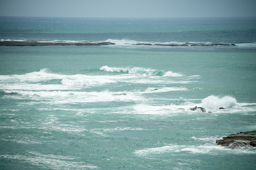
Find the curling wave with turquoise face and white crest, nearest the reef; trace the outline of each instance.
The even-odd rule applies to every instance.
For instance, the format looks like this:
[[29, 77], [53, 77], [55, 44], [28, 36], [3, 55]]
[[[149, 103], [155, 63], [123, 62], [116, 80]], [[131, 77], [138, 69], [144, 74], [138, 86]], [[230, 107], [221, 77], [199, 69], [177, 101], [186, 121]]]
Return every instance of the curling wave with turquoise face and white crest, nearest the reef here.
[[166, 73], [162, 70], [155, 70], [149, 68], [140, 68], [140, 67], [133, 67], [133, 68], [120, 68], [120, 67], [108, 67], [102, 66], [100, 70], [108, 71], [108, 72], [124, 72], [129, 74], [141, 74], [144, 76], [168, 76], [168, 77], [178, 77], [182, 76], [178, 73], [173, 73], [172, 71], [167, 71]]

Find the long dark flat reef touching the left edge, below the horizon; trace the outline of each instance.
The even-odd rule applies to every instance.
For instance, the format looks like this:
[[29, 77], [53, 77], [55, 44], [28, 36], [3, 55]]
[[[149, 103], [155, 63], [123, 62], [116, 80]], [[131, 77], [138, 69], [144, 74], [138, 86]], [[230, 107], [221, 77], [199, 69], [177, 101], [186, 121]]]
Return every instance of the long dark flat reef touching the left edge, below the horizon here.
[[51, 40], [25, 40], [25, 41], [0, 41], [0, 46], [100, 46], [114, 45], [112, 42], [92, 42], [92, 41], [51, 41]]

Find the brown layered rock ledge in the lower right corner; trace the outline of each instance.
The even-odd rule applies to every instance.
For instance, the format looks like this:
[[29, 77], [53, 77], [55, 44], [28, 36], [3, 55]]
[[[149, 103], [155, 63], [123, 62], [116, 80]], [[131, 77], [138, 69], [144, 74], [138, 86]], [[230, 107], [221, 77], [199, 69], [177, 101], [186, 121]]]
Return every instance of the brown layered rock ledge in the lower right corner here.
[[256, 130], [231, 134], [216, 140], [216, 143], [227, 149], [252, 149], [256, 147]]

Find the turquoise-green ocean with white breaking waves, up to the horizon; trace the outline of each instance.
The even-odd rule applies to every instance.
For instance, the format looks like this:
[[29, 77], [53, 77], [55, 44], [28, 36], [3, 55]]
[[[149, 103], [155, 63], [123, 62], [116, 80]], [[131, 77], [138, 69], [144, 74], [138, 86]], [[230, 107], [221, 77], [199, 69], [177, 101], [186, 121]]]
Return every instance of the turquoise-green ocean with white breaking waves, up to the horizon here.
[[0, 40], [115, 43], [0, 46], [0, 169], [255, 169], [216, 140], [256, 130], [256, 17], [0, 17]]

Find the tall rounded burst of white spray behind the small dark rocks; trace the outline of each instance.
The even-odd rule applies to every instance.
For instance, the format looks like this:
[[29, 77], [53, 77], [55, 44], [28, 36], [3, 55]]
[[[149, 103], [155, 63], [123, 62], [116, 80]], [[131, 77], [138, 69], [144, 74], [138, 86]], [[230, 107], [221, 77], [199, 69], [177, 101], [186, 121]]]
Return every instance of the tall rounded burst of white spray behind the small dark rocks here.
[[208, 96], [202, 100], [202, 106], [208, 109], [233, 108], [238, 106], [236, 99], [230, 96]]

